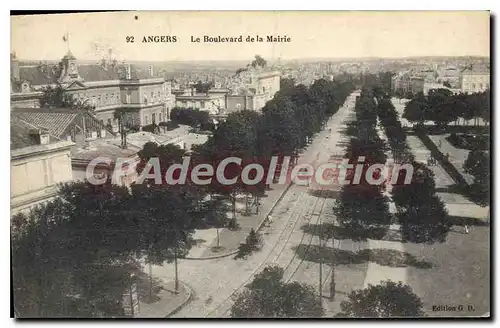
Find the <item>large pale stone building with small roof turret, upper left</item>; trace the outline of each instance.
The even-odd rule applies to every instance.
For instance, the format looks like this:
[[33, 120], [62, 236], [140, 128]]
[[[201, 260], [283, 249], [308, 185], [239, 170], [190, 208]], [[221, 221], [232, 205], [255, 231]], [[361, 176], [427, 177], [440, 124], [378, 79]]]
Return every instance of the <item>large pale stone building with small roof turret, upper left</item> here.
[[[43, 87], [57, 83], [75, 100], [95, 107], [95, 116], [117, 129], [116, 110], [127, 110], [131, 125], [167, 121], [175, 106], [170, 82], [132, 64], [78, 65], [68, 53], [59, 65], [19, 67], [11, 56], [11, 102], [13, 107], [39, 107]], [[38, 100], [38, 101], [37, 101]]]

